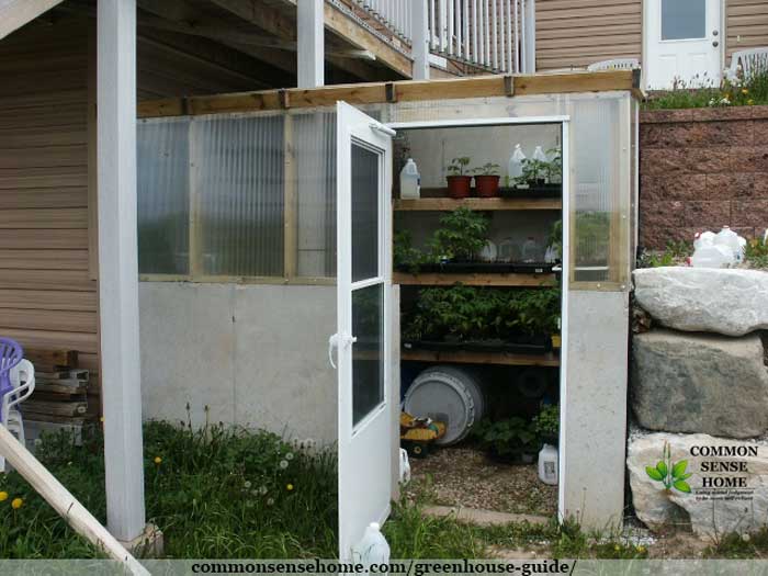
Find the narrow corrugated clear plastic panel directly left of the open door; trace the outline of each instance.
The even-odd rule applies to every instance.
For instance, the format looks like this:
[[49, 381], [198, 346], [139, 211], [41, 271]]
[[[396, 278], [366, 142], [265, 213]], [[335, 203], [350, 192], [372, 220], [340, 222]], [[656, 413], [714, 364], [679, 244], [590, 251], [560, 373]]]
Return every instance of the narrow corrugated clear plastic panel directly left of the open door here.
[[289, 116], [296, 180], [296, 270], [336, 276], [336, 112]]

